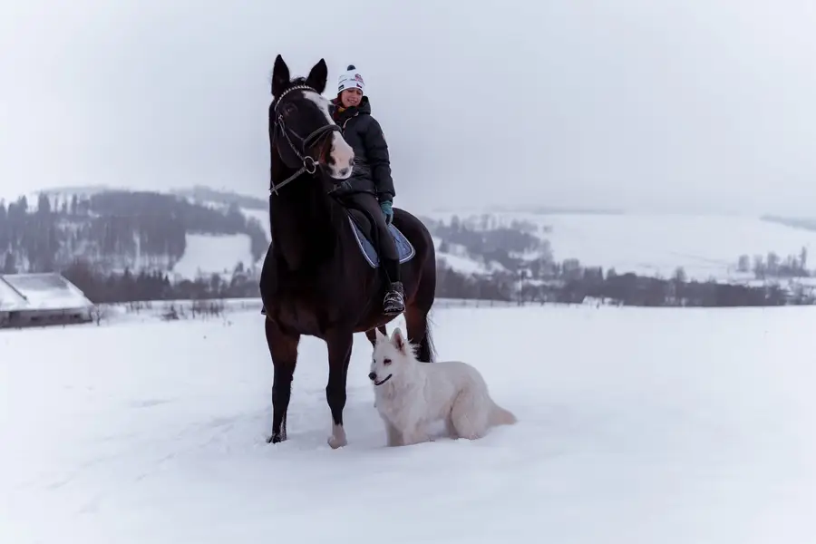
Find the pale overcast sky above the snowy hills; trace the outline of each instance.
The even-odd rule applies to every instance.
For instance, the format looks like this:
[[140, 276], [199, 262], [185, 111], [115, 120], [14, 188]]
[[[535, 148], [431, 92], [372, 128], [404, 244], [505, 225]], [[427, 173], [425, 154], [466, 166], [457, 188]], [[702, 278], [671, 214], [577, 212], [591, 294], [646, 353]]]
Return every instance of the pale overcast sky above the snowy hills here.
[[[811, 214], [810, 0], [0, 0], [0, 196], [267, 196], [278, 53], [363, 74], [394, 205]], [[816, 215], [816, 212], [811, 215]]]

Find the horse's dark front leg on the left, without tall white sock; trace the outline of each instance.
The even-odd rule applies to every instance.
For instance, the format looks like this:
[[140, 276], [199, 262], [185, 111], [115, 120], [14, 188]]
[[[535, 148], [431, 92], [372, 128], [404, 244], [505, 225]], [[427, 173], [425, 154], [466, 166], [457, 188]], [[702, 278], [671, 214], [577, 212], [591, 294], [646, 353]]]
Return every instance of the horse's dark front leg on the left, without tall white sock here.
[[292, 378], [297, 363], [297, 344], [300, 335], [284, 333], [271, 319], [266, 319], [267, 345], [272, 355], [272, 436], [267, 442], [276, 444], [287, 440], [287, 409], [292, 395]]

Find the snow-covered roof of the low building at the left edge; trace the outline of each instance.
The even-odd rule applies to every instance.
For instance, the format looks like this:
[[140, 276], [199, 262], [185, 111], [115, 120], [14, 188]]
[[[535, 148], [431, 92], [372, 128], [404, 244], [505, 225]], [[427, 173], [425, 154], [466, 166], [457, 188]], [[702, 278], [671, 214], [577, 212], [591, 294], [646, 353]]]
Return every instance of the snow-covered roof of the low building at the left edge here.
[[59, 274], [0, 275], [0, 310], [67, 310], [92, 306], [82, 291]]

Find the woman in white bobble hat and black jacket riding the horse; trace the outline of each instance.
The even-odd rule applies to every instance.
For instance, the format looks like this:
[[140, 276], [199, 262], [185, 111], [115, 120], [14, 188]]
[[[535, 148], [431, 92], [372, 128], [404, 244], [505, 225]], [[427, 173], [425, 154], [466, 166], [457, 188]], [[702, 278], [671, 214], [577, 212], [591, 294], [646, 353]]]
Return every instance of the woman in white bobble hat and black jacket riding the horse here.
[[332, 115], [343, 131], [343, 138], [355, 150], [351, 178], [332, 190], [345, 205], [363, 209], [374, 219], [379, 257], [390, 282], [383, 301], [383, 312], [397, 316], [405, 310], [403, 283], [400, 280], [399, 254], [387, 225], [393, 220], [392, 202], [396, 191], [391, 178], [388, 144], [380, 123], [371, 115], [371, 102], [365, 96], [363, 77], [350, 64], [337, 82], [337, 97]]

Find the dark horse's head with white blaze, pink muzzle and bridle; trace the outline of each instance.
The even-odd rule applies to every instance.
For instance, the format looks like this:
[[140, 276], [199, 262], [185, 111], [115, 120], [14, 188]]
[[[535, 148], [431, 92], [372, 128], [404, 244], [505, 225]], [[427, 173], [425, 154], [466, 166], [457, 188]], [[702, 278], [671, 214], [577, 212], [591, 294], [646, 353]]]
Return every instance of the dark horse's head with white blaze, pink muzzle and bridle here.
[[[328, 70], [320, 59], [306, 79], [290, 79], [287, 63], [278, 54], [272, 72], [273, 101], [269, 106], [271, 151], [290, 169], [315, 174], [322, 167], [335, 180], [351, 176], [355, 152], [343, 139], [323, 97]], [[288, 182], [286, 180], [285, 182]], [[278, 183], [279, 186], [279, 183]]]

